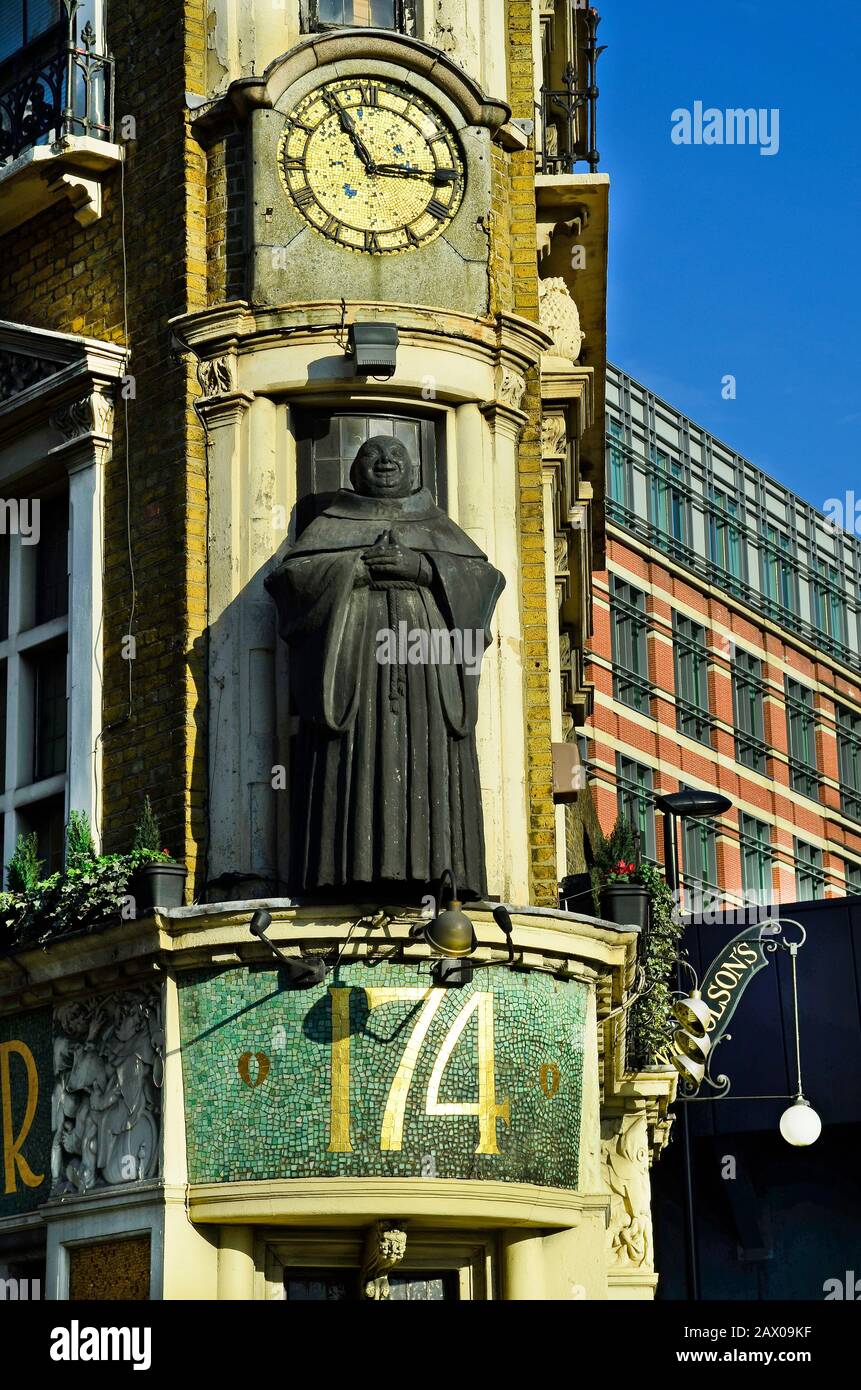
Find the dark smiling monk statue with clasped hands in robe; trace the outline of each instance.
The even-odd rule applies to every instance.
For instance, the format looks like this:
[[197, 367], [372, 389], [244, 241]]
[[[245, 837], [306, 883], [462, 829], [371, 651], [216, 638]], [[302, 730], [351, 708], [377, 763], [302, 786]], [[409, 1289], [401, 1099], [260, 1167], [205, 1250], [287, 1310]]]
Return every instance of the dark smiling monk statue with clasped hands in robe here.
[[299, 717], [288, 887], [415, 901], [448, 867], [481, 898], [478, 677], [505, 580], [401, 441], [367, 439], [349, 477], [266, 580]]

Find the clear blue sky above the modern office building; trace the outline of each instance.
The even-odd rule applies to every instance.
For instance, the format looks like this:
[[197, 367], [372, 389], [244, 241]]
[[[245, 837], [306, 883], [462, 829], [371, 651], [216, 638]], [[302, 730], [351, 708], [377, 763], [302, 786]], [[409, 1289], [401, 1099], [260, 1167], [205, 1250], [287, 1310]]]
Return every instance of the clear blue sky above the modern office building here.
[[[861, 495], [861, 3], [598, 10], [611, 361], [814, 505]], [[694, 101], [776, 107], [778, 153], [675, 145]]]

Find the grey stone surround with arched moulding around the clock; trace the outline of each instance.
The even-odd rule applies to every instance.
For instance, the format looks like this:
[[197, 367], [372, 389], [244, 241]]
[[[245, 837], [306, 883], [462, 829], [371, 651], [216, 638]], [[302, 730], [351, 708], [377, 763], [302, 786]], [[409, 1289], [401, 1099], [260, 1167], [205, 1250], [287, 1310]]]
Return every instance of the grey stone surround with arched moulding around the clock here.
[[[453, 128], [466, 168], [452, 222], [415, 250], [377, 256], [341, 247], [313, 231], [292, 206], [278, 172], [285, 115], [309, 92], [339, 78], [389, 79], [412, 86]], [[491, 140], [505, 133], [504, 101], [488, 100], [451, 58], [389, 31], [316, 35], [270, 64], [261, 78], [234, 82], [198, 117], [204, 138], [221, 113], [249, 125], [249, 297], [302, 302], [319, 295], [349, 300], [438, 304], [484, 314], [490, 302]]]

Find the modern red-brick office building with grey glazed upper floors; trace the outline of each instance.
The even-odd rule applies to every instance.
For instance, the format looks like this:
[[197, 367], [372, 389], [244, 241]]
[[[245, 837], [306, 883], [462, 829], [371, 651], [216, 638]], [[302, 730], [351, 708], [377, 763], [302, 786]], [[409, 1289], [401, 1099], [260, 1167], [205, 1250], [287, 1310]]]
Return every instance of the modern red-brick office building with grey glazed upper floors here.
[[[687, 821], [705, 908], [861, 891], [861, 542], [616, 367], [584, 748], [601, 823], [719, 788]], [[701, 890], [701, 894], [700, 894]]]

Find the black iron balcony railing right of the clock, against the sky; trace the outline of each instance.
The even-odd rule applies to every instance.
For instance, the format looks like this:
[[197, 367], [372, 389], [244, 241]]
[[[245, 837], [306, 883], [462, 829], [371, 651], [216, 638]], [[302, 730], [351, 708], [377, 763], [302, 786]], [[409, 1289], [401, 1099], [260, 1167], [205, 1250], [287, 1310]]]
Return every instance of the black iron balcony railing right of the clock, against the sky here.
[[[606, 44], [598, 44], [601, 15], [594, 8], [574, 11], [583, 15], [586, 42], [586, 85], [577, 86], [577, 70], [569, 63], [562, 74], [561, 88], [541, 88], [536, 103], [541, 126], [541, 150], [537, 163], [541, 174], [573, 174], [577, 164], [588, 164], [590, 174], [598, 168], [598, 58]], [[581, 114], [583, 113], [583, 117]]]

